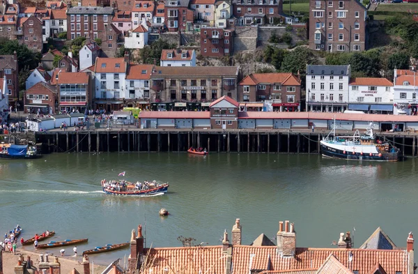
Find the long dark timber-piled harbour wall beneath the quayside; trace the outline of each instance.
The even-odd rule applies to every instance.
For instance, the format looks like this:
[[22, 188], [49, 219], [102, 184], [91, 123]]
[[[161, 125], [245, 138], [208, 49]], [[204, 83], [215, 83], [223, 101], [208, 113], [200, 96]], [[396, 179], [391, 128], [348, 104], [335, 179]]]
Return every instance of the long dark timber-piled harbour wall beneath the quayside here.
[[[89, 130], [36, 132], [42, 153], [67, 152], [186, 152], [189, 147], [209, 153], [320, 153], [320, 139], [327, 130]], [[339, 131], [337, 135], [353, 135]], [[416, 133], [385, 132], [380, 135], [417, 156]]]

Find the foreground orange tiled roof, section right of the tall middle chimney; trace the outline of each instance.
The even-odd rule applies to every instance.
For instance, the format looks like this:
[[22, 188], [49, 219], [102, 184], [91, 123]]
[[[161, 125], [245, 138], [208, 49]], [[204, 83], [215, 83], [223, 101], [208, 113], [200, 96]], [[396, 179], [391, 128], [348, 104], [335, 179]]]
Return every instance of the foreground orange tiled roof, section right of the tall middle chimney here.
[[[351, 262], [348, 259], [350, 253], [353, 254]], [[408, 273], [408, 254], [405, 250], [296, 248], [293, 258], [277, 254], [277, 247], [252, 247], [249, 245], [235, 245], [233, 247], [233, 273], [248, 273], [249, 269], [267, 269], [269, 261], [272, 271], [318, 269], [330, 254], [334, 254], [343, 266], [359, 271], [359, 274], [368, 274], [376, 263], [379, 263], [387, 274], [396, 274], [396, 271]]]

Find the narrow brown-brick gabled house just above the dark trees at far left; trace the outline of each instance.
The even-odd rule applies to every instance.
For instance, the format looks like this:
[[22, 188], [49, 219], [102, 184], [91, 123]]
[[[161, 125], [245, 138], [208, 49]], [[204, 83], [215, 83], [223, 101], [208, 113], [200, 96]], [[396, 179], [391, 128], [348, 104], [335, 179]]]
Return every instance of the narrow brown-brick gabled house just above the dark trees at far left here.
[[42, 42], [42, 22], [35, 16], [29, 17], [22, 24], [23, 39], [20, 42], [26, 45], [29, 50], [41, 52]]

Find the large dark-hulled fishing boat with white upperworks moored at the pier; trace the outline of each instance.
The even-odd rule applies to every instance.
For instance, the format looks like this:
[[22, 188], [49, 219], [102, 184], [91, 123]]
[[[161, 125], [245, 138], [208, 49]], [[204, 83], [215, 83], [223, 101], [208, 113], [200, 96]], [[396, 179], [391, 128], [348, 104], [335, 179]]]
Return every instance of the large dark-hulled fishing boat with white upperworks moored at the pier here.
[[336, 136], [335, 119], [332, 131], [320, 141], [321, 153], [325, 157], [346, 160], [372, 160], [396, 162], [400, 158], [400, 150], [389, 142], [376, 137], [373, 133], [373, 123], [364, 132], [356, 130], [352, 136]]

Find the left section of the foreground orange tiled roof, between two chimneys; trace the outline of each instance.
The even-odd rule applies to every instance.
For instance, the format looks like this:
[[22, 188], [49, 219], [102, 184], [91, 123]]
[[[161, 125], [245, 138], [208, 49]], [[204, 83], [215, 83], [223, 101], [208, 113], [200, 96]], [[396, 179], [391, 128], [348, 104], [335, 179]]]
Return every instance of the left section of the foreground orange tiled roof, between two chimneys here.
[[[148, 250], [146, 250], [148, 251]], [[152, 273], [225, 273], [226, 255], [222, 246], [204, 246], [192, 248], [152, 248], [148, 261]], [[149, 273], [151, 271], [149, 270]], [[144, 273], [148, 271], [144, 271]], [[234, 272], [236, 273], [236, 272]], [[248, 269], [246, 272], [248, 273]]]

